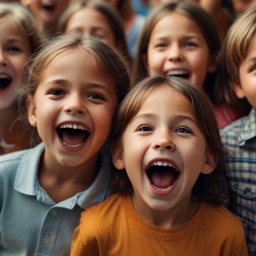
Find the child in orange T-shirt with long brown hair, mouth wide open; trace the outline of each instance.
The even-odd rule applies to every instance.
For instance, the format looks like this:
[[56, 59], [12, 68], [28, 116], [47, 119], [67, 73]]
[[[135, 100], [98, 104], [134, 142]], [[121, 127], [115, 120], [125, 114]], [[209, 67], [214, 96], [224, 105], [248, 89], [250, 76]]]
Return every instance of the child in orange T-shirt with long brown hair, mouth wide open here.
[[113, 125], [117, 193], [82, 213], [71, 255], [248, 255], [240, 219], [220, 206], [223, 148], [211, 116], [188, 80], [133, 87]]

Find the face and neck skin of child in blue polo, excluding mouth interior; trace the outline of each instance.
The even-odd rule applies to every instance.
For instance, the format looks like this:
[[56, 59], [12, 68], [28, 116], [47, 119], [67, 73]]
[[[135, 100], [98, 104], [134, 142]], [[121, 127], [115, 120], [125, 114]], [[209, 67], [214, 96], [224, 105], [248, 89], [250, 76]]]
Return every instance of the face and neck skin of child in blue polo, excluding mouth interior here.
[[[92, 54], [83, 49], [65, 51], [45, 69], [35, 95], [28, 96], [28, 118], [45, 144], [39, 182], [53, 200], [92, 184], [117, 104], [115, 84], [102, 76]], [[89, 136], [83, 144], [63, 137], [65, 144], [56, 130], [62, 124], [81, 125]]]

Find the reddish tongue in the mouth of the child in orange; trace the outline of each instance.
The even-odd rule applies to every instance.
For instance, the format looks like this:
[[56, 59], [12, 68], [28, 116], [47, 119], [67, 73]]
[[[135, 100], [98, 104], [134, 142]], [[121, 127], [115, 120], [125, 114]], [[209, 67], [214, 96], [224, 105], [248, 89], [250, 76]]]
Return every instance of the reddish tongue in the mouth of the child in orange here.
[[151, 181], [158, 188], [168, 188], [175, 182], [175, 177], [172, 172], [153, 172]]

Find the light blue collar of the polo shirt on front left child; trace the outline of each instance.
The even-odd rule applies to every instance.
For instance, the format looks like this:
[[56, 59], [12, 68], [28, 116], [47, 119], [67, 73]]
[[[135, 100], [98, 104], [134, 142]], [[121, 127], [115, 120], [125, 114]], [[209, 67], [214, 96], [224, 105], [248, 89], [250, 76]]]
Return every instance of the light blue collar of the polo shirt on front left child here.
[[[43, 152], [44, 143], [27, 150], [17, 170], [14, 188], [20, 193], [37, 196], [37, 200], [44, 201], [44, 203], [54, 204], [46, 192], [42, 193], [43, 189], [38, 183], [37, 172]], [[92, 185], [87, 190], [77, 193], [75, 196], [56, 204], [56, 206], [72, 209], [78, 204], [85, 209], [91, 204], [103, 201], [111, 194], [108, 190], [110, 179], [109, 160], [100, 152], [99, 161], [101, 161], [101, 164], [99, 164], [100, 170]]]

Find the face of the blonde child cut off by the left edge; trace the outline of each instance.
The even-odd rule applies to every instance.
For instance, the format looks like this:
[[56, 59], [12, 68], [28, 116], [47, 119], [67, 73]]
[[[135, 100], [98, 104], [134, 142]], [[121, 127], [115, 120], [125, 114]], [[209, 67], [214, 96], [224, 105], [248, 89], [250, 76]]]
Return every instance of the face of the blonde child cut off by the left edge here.
[[8, 17], [0, 19], [0, 108], [16, 104], [30, 56], [28, 38], [16, 30]]

